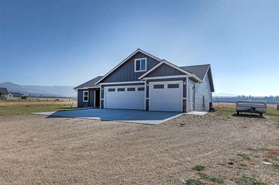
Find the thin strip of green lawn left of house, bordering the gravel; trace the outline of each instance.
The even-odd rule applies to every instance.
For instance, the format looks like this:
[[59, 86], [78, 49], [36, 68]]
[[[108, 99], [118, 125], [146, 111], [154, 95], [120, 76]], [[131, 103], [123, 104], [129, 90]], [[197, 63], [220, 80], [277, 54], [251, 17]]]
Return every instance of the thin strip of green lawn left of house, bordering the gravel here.
[[70, 106], [6, 106], [0, 107], [0, 115], [13, 115], [24, 113], [38, 113], [47, 111], [68, 111], [76, 110], [77, 108], [70, 108]]

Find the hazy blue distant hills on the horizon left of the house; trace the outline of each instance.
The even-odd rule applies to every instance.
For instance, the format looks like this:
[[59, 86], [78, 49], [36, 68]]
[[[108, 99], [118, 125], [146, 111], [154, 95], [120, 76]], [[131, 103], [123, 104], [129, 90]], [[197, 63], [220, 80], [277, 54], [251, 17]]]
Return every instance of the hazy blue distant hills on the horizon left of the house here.
[[77, 93], [71, 86], [21, 86], [15, 83], [0, 83], [1, 88], [7, 88], [9, 92], [20, 92], [24, 95], [45, 97], [77, 97]]

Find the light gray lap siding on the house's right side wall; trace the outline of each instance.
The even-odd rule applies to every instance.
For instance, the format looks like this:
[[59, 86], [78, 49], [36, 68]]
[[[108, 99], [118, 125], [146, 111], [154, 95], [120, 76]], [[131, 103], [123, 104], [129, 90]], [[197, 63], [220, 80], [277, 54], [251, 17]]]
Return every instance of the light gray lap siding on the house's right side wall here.
[[202, 83], [195, 83], [195, 111], [209, 111], [209, 102], [212, 102], [212, 94], [209, 76], [206, 74]]

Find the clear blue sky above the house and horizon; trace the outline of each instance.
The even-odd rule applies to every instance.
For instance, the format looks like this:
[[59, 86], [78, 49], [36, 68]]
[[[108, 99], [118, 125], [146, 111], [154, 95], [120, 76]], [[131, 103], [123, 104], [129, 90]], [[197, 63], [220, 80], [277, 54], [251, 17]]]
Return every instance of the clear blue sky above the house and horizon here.
[[77, 86], [137, 48], [211, 63], [217, 93], [279, 95], [279, 1], [0, 1], [0, 82]]

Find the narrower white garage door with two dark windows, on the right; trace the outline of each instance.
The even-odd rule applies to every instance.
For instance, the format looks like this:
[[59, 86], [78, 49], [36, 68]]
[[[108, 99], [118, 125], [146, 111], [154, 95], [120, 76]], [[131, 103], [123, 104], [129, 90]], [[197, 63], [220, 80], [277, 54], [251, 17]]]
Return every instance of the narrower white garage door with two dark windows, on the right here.
[[149, 110], [182, 112], [182, 81], [149, 83]]

